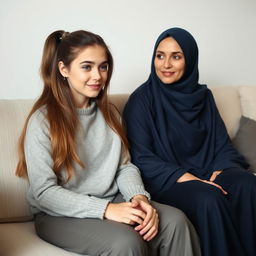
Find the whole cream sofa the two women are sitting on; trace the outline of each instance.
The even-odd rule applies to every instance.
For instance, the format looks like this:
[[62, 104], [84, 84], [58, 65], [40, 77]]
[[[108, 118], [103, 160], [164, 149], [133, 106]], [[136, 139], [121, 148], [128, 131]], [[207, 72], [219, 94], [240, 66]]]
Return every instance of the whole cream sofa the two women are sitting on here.
[[[256, 86], [212, 88], [217, 107], [233, 138], [241, 115], [256, 120]], [[122, 112], [127, 94], [111, 95]], [[37, 237], [26, 201], [28, 182], [14, 175], [17, 140], [33, 100], [0, 100], [0, 256], [76, 255]]]

